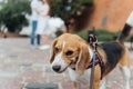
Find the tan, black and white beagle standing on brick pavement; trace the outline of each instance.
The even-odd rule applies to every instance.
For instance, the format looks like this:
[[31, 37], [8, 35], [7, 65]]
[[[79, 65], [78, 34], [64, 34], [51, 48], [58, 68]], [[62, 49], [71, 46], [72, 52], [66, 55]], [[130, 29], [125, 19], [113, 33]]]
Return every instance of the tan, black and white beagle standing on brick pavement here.
[[[129, 50], [124, 44], [124, 39], [129, 36], [133, 27], [133, 12], [127, 18], [126, 23], [115, 41], [98, 44], [104, 71], [101, 73], [99, 65], [94, 69], [93, 89], [105, 89], [105, 77], [120, 66], [125, 79], [125, 89], [130, 89], [130, 57]], [[69, 70], [73, 82], [73, 89], [82, 89], [80, 85], [90, 81], [91, 69], [89, 62], [93, 59], [93, 48], [76, 34], [64, 33], [54, 39], [51, 48], [50, 63], [52, 69], [61, 73]], [[101, 79], [102, 76], [102, 79]]]

